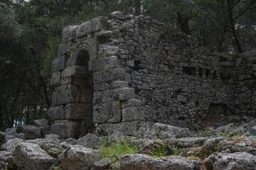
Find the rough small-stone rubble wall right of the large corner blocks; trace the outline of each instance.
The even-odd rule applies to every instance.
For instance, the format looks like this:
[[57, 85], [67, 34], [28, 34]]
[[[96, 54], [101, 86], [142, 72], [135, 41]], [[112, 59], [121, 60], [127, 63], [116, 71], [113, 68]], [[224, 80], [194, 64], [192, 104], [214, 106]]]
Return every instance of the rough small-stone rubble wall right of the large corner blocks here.
[[[189, 37], [166, 33], [147, 16], [132, 17], [120, 16], [112, 23], [119, 29], [110, 44], [121, 49], [119, 62], [130, 73], [130, 86], [143, 101], [146, 120], [200, 127], [207, 123], [211, 105], [229, 105], [218, 56], [204, 54]], [[218, 122], [215, 114], [210, 122]]]

